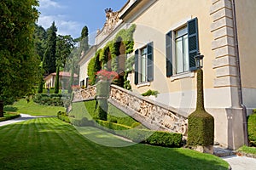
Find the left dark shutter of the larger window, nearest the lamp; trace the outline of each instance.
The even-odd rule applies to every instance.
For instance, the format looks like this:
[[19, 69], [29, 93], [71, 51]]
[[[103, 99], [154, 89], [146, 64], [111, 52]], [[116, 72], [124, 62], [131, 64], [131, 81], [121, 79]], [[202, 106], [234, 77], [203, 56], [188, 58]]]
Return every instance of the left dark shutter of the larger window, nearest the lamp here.
[[166, 34], [166, 77], [172, 77], [172, 31]]

